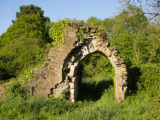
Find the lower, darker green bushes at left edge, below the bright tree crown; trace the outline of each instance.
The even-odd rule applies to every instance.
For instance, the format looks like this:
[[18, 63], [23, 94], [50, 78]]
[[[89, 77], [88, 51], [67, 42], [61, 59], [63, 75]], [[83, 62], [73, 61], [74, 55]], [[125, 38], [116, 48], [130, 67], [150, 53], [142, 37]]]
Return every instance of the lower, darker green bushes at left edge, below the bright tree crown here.
[[1, 79], [17, 76], [28, 65], [35, 65], [44, 58], [45, 47], [39, 45], [39, 39], [19, 38], [12, 44], [7, 44], [0, 51]]

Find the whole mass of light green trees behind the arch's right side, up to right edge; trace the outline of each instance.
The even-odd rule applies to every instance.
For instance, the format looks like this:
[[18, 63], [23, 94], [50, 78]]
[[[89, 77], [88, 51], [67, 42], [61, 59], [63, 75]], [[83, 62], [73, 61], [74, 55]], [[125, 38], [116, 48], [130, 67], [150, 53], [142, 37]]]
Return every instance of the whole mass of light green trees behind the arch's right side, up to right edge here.
[[100, 20], [90, 17], [87, 24], [103, 28], [118, 48], [127, 66], [159, 62], [159, 25], [152, 25], [141, 8], [129, 5], [118, 16]]

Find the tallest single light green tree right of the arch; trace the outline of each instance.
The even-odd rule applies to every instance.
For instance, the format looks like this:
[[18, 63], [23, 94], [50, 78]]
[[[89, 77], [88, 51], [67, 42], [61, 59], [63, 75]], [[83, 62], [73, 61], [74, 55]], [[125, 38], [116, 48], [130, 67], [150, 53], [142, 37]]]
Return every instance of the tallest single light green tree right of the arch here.
[[[114, 18], [110, 41], [120, 51], [127, 65], [139, 65], [149, 62], [154, 49], [149, 39], [148, 19], [141, 8], [129, 5]], [[146, 54], [147, 53], [147, 54]]]

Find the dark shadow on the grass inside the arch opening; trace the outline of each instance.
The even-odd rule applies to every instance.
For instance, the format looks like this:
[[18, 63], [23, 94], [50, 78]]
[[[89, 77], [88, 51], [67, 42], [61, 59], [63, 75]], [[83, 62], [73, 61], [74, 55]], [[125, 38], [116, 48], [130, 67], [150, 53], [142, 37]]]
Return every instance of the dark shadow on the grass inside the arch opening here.
[[82, 82], [79, 88], [78, 100], [97, 101], [101, 98], [105, 89], [113, 85], [113, 80], [101, 80], [99, 82]]

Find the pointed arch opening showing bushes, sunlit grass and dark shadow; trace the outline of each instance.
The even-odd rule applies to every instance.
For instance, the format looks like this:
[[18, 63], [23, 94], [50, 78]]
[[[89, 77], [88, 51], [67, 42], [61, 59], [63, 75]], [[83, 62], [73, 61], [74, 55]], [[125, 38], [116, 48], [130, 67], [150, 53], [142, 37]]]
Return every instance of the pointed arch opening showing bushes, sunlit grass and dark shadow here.
[[106, 89], [114, 87], [114, 68], [107, 56], [99, 51], [88, 54], [79, 63], [76, 74], [77, 100], [97, 101]]

